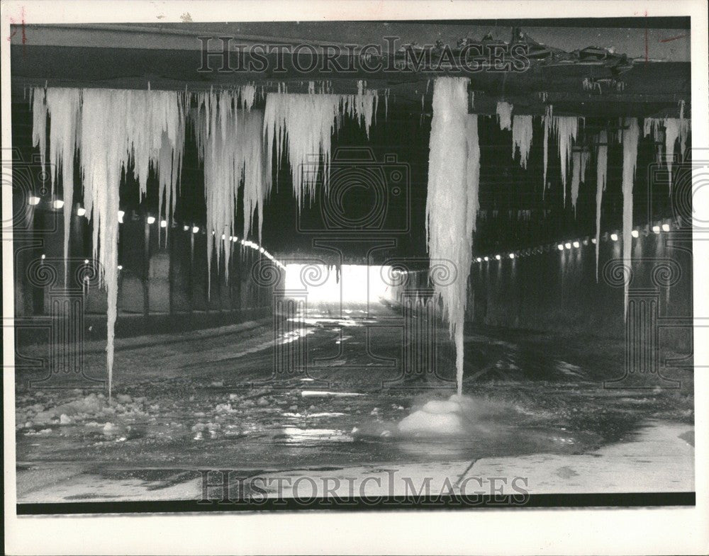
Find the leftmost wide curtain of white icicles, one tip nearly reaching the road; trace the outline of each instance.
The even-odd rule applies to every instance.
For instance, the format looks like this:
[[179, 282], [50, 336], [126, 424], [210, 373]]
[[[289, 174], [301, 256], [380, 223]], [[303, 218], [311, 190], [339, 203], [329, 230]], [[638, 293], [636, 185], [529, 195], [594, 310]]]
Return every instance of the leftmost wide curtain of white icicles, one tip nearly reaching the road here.
[[[45, 100], [46, 98], [46, 100]], [[101, 283], [106, 288], [106, 368], [108, 395], [113, 386], [113, 339], [118, 305], [118, 191], [121, 177], [133, 164], [140, 191], [147, 191], [152, 166], [164, 172], [162, 186], [169, 186], [166, 212], [174, 207], [175, 188], [184, 148], [184, 94], [165, 91], [115, 89], [34, 89], [33, 144], [46, 159], [46, 115], [50, 123], [50, 160], [62, 166], [66, 225], [73, 205], [73, 161], [79, 152], [84, 186], [84, 208], [92, 224], [94, 259], [99, 261]], [[73, 117], [73, 120], [72, 120]], [[182, 121], [181, 121], [182, 120]], [[57, 169], [58, 171], [58, 169]], [[56, 177], [56, 176], [55, 176]], [[52, 180], [52, 189], [53, 183]], [[160, 201], [162, 203], [162, 194]]]

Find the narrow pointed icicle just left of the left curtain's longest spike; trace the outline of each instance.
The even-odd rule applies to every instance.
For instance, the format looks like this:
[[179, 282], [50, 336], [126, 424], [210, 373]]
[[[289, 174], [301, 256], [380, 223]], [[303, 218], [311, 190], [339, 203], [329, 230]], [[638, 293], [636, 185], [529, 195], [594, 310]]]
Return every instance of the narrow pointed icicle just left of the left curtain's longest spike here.
[[52, 167], [52, 190], [61, 171], [64, 191], [64, 280], [69, 265], [69, 233], [74, 210], [74, 153], [77, 147], [77, 123], [81, 91], [79, 89], [48, 89], [47, 112], [51, 118], [49, 162]]

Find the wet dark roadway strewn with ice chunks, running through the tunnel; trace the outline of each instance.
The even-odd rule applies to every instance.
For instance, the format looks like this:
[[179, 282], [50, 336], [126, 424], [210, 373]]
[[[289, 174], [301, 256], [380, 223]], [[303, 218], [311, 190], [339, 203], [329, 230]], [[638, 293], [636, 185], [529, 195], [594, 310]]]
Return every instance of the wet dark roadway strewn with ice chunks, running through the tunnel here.
[[[681, 390], [603, 388], [604, 378], [622, 370], [622, 342], [476, 330], [465, 345], [464, 429], [402, 433], [402, 419], [454, 393], [454, 355], [441, 329], [436, 372], [403, 373], [396, 316], [384, 305], [319, 307], [308, 312], [304, 329], [276, 338], [266, 321], [172, 344], [119, 342], [111, 403], [96, 390], [28, 388], [24, 374], [16, 391], [18, 491], [33, 490], [38, 479], [30, 472], [38, 467], [133, 477], [167, 489], [199, 469], [283, 472], [581, 455], [633, 441], [651, 420], [679, 423], [683, 431], [693, 425], [691, 374], [681, 376]], [[274, 343], [298, 342], [307, 343], [308, 372], [274, 370]], [[85, 366], [99, 376], [104, 354], [87, 353]]]

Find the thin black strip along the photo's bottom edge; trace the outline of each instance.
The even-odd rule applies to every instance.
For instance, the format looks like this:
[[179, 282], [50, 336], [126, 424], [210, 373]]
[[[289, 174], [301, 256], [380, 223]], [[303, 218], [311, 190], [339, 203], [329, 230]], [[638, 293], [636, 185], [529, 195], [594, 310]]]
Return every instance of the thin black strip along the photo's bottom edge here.
[[432, 509], [524, 509], [638, 506], [694, 506], [694, 492], [633, 492], [623, 494], [532, 494], [526, 499], [508, 496], [479, 497], [372, 497], [349, 499], [268, 499], [266, 501], [203, 502], [199, 500], [134, 502], [68, 502], [17, 504], [18, 516], [50, 514], [148, 514], [207, 511], [363, 511]]

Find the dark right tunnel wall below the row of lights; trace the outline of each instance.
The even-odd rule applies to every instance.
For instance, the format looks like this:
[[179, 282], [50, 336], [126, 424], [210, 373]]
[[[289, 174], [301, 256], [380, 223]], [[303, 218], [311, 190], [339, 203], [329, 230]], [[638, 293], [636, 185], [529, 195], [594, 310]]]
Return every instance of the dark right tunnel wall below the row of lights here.
[[[473, 324], [559, 335], [625, 334], [622, 242], [599, 243], [598, 280], [596, 246], [579, 244], [559, 251], [503, 254], [500, 261], [474, 263], [469, 282], [467, 320]], [[630, 299], [657, 298], [663, 319], [692, 317], [691, 233], [640, 234], [633, 239]], [[668, 327], [661, 340], [686, 347], [691, 328]]]

